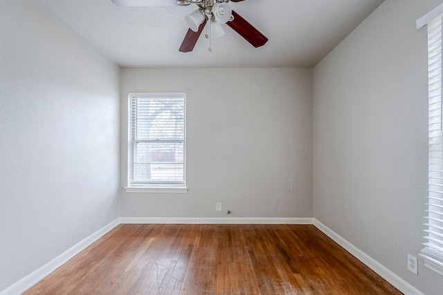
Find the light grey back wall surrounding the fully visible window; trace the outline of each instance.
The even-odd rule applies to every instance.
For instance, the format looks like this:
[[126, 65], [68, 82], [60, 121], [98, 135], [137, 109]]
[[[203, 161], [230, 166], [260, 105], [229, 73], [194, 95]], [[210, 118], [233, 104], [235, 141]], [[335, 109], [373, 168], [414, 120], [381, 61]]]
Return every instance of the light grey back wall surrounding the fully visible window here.
[[122, 186], [130, 92], [187, 93], [189, 189], [123, 193], [121, 216], [312, 216], [311, 69], [123, 69]]

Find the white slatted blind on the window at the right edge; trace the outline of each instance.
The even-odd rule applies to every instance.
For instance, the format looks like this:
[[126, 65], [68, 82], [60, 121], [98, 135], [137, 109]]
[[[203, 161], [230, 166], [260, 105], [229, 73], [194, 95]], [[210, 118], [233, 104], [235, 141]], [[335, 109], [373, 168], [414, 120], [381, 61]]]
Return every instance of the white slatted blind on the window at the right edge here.
[[443, 274], [443, 122], [442, 16], [428, 23], [428, 209], [426, 246], [421, 256], [427, 267]]

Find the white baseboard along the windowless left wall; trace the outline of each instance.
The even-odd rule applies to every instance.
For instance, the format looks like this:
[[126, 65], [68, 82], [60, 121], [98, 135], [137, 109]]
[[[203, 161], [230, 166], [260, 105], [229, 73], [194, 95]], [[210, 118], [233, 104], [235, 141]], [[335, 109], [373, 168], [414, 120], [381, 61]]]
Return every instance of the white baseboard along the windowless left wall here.
[[25, 292], [27, 289], [38, 283], [39, 280], [42, 280], [42, 278], [48, 276], [48, 274], [51, 274], [51, 272], [55, 271], [55, 269], [62, 266], [69, 259], [79, 254], [80, 251], [91, 245], [93, 242], [107, 234], [109, 231], [111, 231], [111, 229], [114, 229], [114, 227], [118, 225], [120, 225], [120, 218], [117, 218], [108, 225], [105, 225], [105, 227], [102, 227], [95, 233], [91, 234], [91, 236], [84, 238], [84, 240], [78, 242], [77, 245], [74, 245], [64, 253], [49, 261], [46, 263], [46, 265], [36, 269], [34, 272], [28, 274], [28, 276], [21, 278], [21, 280], [17, 281], [17, 283], [10, 285], [10, 287], [7, 287], [1, 291], [0, 295], [17, 295]]

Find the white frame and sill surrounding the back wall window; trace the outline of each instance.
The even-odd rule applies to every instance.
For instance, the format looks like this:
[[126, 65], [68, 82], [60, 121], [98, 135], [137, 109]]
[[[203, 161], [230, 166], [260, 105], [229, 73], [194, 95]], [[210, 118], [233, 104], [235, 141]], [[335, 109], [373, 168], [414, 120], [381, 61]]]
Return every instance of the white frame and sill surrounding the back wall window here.
[[[183, 99], [183, 184], [168, 184], [160, 182], [151, 182], [139, 185], [133, 185], [131, 182], [132, 159], [132, 99], [146, 98], [154, 99], [159, 97], [172, 98], [180, 97]], [[124, 187], [127, 193], [187, 193], [186, 184], [186, 93], [129, 93], [127, 98], [127, 186]]]

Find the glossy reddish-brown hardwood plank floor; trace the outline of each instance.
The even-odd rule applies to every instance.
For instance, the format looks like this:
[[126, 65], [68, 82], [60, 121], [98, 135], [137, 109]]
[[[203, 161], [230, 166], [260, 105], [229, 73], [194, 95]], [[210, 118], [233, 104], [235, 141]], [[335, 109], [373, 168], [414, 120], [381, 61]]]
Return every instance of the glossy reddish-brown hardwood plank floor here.
[[312, 225], [119, 225], [24, 294], [401, 294]]

